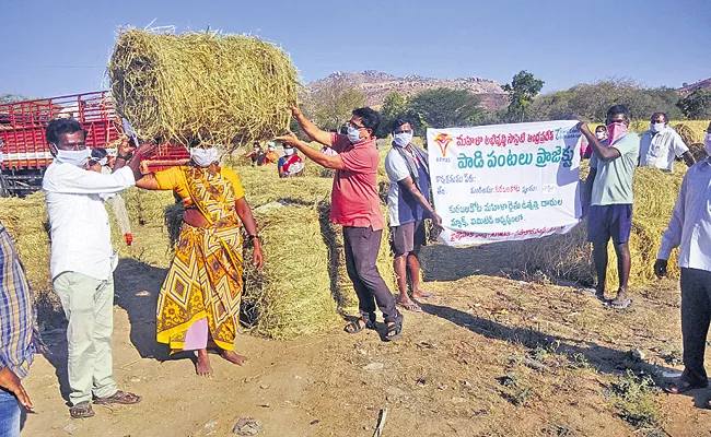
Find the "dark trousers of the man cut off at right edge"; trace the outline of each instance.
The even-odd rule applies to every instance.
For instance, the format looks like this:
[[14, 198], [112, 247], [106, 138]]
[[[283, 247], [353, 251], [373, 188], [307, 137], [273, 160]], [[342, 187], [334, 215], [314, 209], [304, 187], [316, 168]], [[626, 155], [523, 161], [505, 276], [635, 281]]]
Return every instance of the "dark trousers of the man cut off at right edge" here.
[[706, 340], [711, 321], [711, 272], [681, 269], [681, 336], [684, 338], [684, 374], [689, 383], [707, 381], [703, 368]]

